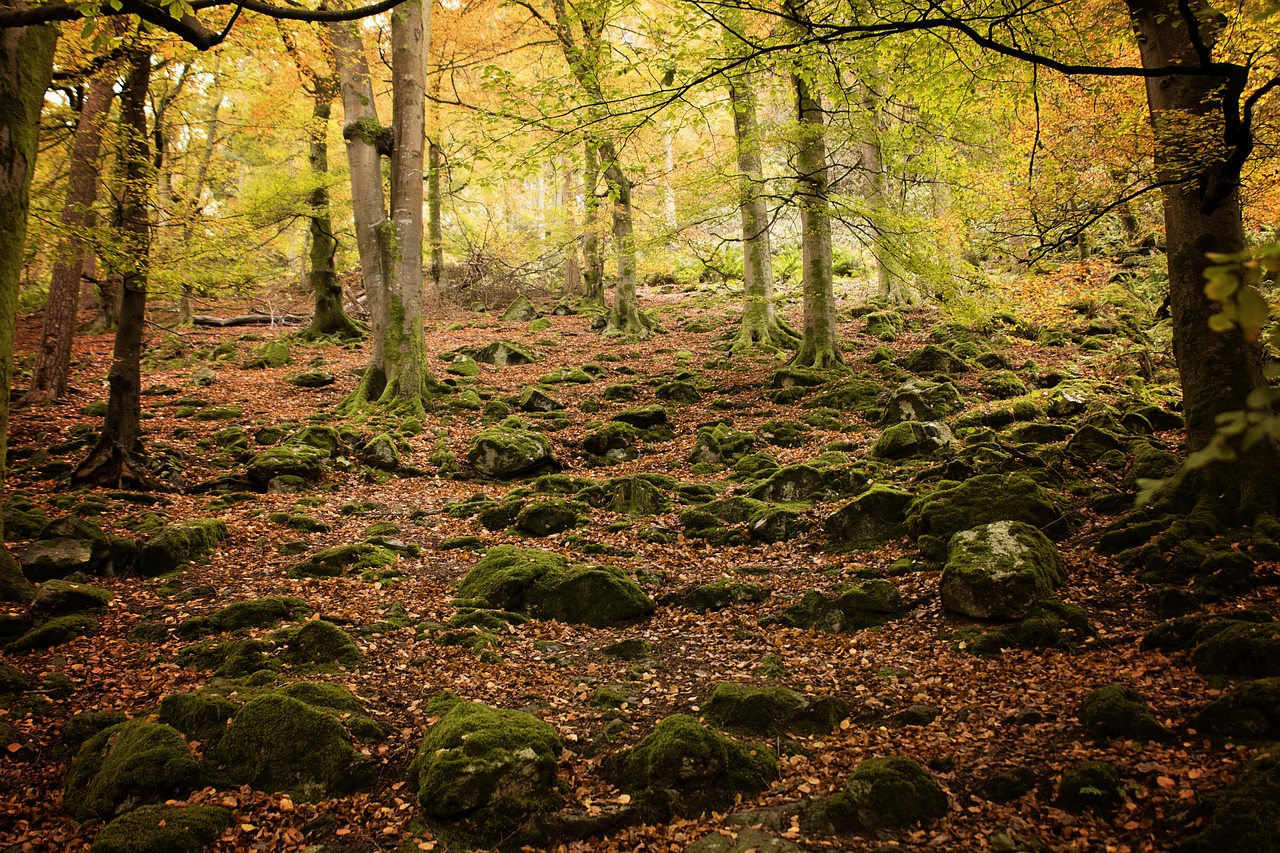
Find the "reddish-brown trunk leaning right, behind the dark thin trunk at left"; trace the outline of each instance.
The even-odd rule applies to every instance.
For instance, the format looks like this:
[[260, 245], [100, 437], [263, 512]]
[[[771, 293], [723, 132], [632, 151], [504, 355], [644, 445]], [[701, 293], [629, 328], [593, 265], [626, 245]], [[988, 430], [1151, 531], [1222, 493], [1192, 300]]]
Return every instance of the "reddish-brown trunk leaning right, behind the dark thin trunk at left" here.
[[111, 109], [113, 76], [99, 72], [90, 81], [88, 92], [81, 106], [76, 124], [76, 140], [67, 175], [67, 200], [63, 204], [63, 237], [54, 261], [45, 302], [45, 327], [36, 366], [31, 377], [31, 389], [15, 403], [28, 406], [59, 400], [67, 393], [67, 375], [70, 370], [72, 341], [76, 337], [76, 318], [79, 314], [81, 275], [84, 254], [91, 245], [91, 232], [97, 224], [97, 182], [102, 167], [102, 126]]

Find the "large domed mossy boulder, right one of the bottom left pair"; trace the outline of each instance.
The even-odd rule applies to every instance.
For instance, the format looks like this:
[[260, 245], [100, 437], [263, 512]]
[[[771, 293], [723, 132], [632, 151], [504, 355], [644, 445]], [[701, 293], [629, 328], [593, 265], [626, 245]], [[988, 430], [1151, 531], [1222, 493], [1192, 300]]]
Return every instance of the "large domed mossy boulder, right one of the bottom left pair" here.
[[352, 748], [342, 724], [278, 693], [247, 702], [210, 752], [230, 784], [308, 800], [351, 793], [372, 781], [370, 765]]

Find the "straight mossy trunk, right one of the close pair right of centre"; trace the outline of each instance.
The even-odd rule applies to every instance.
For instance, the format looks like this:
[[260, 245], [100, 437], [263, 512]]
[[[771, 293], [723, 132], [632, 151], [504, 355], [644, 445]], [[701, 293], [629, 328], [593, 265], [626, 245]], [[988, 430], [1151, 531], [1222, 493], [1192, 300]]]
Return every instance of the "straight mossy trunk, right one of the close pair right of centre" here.
[[828, 209], [827, 146], [823, 111], [808, 82], [794, 74], [799, 140], [796, 197], [800, 202], [804, 329], [791, 364], [824, 370], [845, 364], [836, 339], [836, 295], [831, 272], [831, 211]]

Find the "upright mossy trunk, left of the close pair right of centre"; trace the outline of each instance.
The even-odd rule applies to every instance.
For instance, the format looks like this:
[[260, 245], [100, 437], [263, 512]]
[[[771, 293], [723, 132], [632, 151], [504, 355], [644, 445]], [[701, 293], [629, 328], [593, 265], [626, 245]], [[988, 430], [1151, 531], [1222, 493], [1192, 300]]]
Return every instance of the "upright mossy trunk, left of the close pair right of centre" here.
[[[730, 29], [724, 42], [731, 55], [741, 45]], [[732, 352], [795, 347], [800, 338], [773, 310], [773, 247], [769, 210], [764, 204], [764, 168], [760, 163], [760, 126], [755, 110], [754, 79], [749, 72], [730, 78], [733, 143], [737, 152], [737, 204], [742, 216], [742, 328]]]

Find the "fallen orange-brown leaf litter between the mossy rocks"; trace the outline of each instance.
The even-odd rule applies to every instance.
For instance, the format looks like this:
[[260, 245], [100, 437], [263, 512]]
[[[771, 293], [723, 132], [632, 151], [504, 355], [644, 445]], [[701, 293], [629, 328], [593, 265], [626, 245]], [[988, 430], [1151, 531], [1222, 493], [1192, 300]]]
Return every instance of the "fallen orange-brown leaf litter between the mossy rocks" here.
[[[846, 320], [841, 336], [850, 365], [867, 371], [865, 359], [881, 341], [864, 333], [861, 320], [847, 319], [849, 309], [860, 296], [842, 295], [841, 316]], [[1060, 302], [1070, 296], [1064, 292]], [[604, 378], [586, 384], [559, 384], [550, 392], [566, 405], [570, 420], [567, 428], [547, 433], [563, 473], [599, 479], [662, 473], [682, 482], [732, 489], [726, 473], [689, 471], [687, 456], [698, 426], [727, 416], [735, 428], [753, 433], [769, 419], [800, 420], [805, 411], [803, 401], [778, 405], [764, 396], [771, 375], [781, 364], [773, 357], [736, 357], [731, 365], [717, 361], [726, 359], [722, 330], [736, 316], [728, 288], [704, 287], [694, 292], [645, 288], [641, 298], [658, 309], [666, 334], [643, 343], [602, 339], [590, 330], [584, 315], [553, 316], [552, 329], [529, 332], [525, 323], [498, 321], [495, 314], [502, 306], [495, 306], [492, 314], [460, 311], [430, 321], [430, 364], [443, 377], [445, 362], [436, 360], [439, 353], [498, 338], [543, 353], [543, 360], [525, 366], [483, 365], [475, 387], [485, 396], [499, 397], [517, 394], [557, 368], [599, 364]], [[1043, 292], [1037, 298], [1052, 302]], [[214, 306], [224, 309], [227, 314], [234, 313], [233, 306]], [[1068, 329], [1084, 323], [1084, 318], [1061, 305], [1050, 305], [1043, 311], [1052, 311], [1053, 319]], [[927, 343], [931, 332], [946, 323], [937, 309], [914, 310], [908, 320], [909, 330], [891, 345], [899, 355]], [[690, 327], [712, 330], [687, 330]], [[38, 329], [38, 316], [19, 323], [19, 369], [29, 359]], [[206, 421], [179, 418], [173, 397], [143, 397], [146, 439], [151, 444], [165, 443], [179, 455], [186, 484], [227, 473], [214, 464], [220, 451], [210, 448], [205, 439], [228, 425], [241, 424], [251, 430], [317, 420], [337, 423], [334, 407], [353, 389], [356, 371], [366, 360], [365, 350], [294, 345], [294, 366], [243, 370], [234, 361], [224, 361], [207, 365], [216, 371], [216, 382], [202, 388], [191, 386], [195, 370], [206, 366], [192, 353], [232, 343], [238, 353], [247, 356], [259, 346], [257, 336], [293, 330], [195, 328], [169, 333], [156, 327], [148, 330], [145, 387], [168, 386], [180, 389], [182, 397], [198, 396], [211, 407], [241, 410], [233, 420]], [[1042, 371], [1059, 370], [1115, 388], [1133, 370], [1130, 345], [1111, 341], [1085, 352], [1070, 343], [1041, 347], [1010, 338], [1001, 343], [1001, 351], [1015, 365], [1033, 359]], [[65, 482], [42, 476], [37, 466], [23, 465], [22, 460], [83, 434], [84, 424], [100, 423], [82, 410], [105, 398], [102, 378], [110, 350], [110, 336], [81, 336], [72, 379], [76, 392], [56, 405], [13, 415], [10, 446], [17, 462], [8, 491], [26, 491], [51, 517], [63, 515], [69, 506]], [[600, 360], [600, 353], [620, 356], [621, 361]], [[1156, 366], [1153, 384], [1161, 377], [1171, 384], [1169, 352], [1156, 345], [1151, 356]], [[337, 375], [337, 382], [319, 389], [285, 383], [287, 375], [311, 360], [323, 362]], [[717, 366], [707, 368], [708, 362]], [[631, 462], [589, 466], [579, 450], [588, 424], [607, 420], [627, 406], [653, 402], [657, 383], [649, 380], [671, 379], [682, 370], [695, 374], [708, 389], [700, 402], [671, 407], [675, 438], [644, 446]], [[956, 378], [970, 406], [997, 405], [983, 396], [974, 377]], [[603, 387], [620, 380], [640, 389], [636, 401], [616, 403], [602, 398]], [[1037, 393], [1032, 391], [1030, 396], [1034, 398]], [[598, 402], [600, 409], [584, 412], [581, 405], [588, 400]], [[1197, 803], [1233, 777], [1251, 754], [1244, 745], [1211, 740], [1188, 727], [1196, 712], [1221, 692], [1197, 675], [1184, 653], [1139, 648], [1144, 631], [1161, 620], [1144, 605], [1147, 590], [1142, 584], [1121, 571], [1112, 558], [1093, 549], [1101, 529], [1112, 519], [1091, 512], [1079, 498], [1075, 498], [1078, 510], [1088, 521], [1060, 543], [1069, 576], [1060, 598], [1087, 610], [1096, 637], [1074, 649], [1011, 649], [986, 658], [968, 652], [959, 639], [970, 625], [942, 611], [937, 567], [892, 579], [911, 607], [905, 617], [881, 629], [836, 634], [759, 624], [805, 590], [832, 590], [842, 583], [874, 576], [896, 558], [915, 552], [908, 538], [876, 549], [832, 552], [822, 533], [822, 520], [838, 506], [835, 502], [808, 508], [805, 516], [813, 521], [813, 529], [799, 538], [732, 547], [713, 547], [684, 535], [673, 543], [641, 535], [652, 526], [678, 532], [678, 507], [646, 519], [645, 524], [628, 524], [622, 516], [596, 511], [588, 528], [541, 539], [521, 537], [515, 529], [490, 532], [475, 519], [451, 517], [443, 510], [452, 501], [476, 492], [502, 497], [520, 485], [467, 478], [466, 451], [483, 426], [480, 421], [479, 412], [458, 411], [447, 401], [429, 412], [425, 429], [408, 438], [411, 452], [403, 459], [425, 473], [419, 476], [375, 475], [358, 466], [347, 473], [329, 471], [323, 485], [306, 496], [302, 507], [328, 528], [314, 533], [301, 533], [268, 517], [273, 512], [298, 512], [298, 494], [260, 494], [252, 501], [211, 510], [215, 494], [173, 492], [160, 496], [154, 507], [140, 507], [99, 492], [105, 496], [106, 511], [92, 520], [113, 534], [131, 535], [131, 520], [145, 511], [159, 511], [168, 520], [216, 516], [227, 521], [230, 535], [207, 562], [188, 569], [177, 580], [127, 575], [93, 579], [92, 583], [114, 593], [96, 634], [50, 649], [4, 656], [32, 685], [63, 674], [70, 688], [58, 698], [33, 695], [8, 711], [0, 710], [0, 721], [10, 733], [9, 756], [0, 760], [0, 848], [83, 850], [99, 831], [100, 824], [77, 825], [61, 806], [63, 776], [72, 754], [63, 743], [63, 731], [72, 715], [114, 710], [134, 719], [154, 719], [163, 697], [195, 690], [211, 679], [207, 671], [178, 665], [178, 652], [187, 640], [169, 634], [163, 642], [136, 642], [131, 639], [136, 626], [154, 621], [175, 625], [232, 602], [266, 596], [303, 598], [316, 613], [357, 638], [365, 663], [308, 678], [344, 684], [365, 701], [369, 715], [387, 733], [381, 742], [362, 747], [379, 763], [379, 775], [367, 793], [314, 803], [248, 788], [197, 790], [186, 802], [221, 803], [236, 813], [234, 825], [209, 849], [302, 850], [316, 844], [349, 850], [448, 849], [430, 831], [411, 826], [419, 804], [403, 785], [406, 767], [431, 722], [424, 706], [442, 690], [502, 708], [527, 710], [554, 726], [566, 745], [559, 762], [559, 775], [566, 783], [564, 809], [586, 815], [627, 800], [602, 772], [602, 757], [591, 749], [613, 720], [626, 722], [612, 745], [618, 749], [636, 743], [668, 715], [698, 716], [710, 689], [722, 681], [778, 683], [806, 694], [838, 697], [849, 703], [849, 717], [820, 735], [777, 739], [773, 744], [781, 753], [777, 779], [760, 795], [745, 798], [735, 811], [787, 806], [833, 793], [859, 762], [890, 754], [909, 756], [928, 766], [948, 795], [950, 811], [931, 825], [879, 835], [808, 836], [799, 822], [783, 825], [778, 831], [812, 850], [1172, 849], [1194, 821]], [[81, 432], [73, 433], [77, 428]], [[879, 432], [873, 423], [847, 414], [837, 430], [814, 428], [799, 447], [767, 450], [786, 465], [812, 459], [828, 443], [841, 441], [856, 446], [859, 450], [852, 452], [856, 456], [870, 447]], [[1176, 433], [1166, 433], [1161, 439], [1176, 447]], [[460, 476], [440, 476], [431, 462], [442, 441], [460, 460]], [[76, 461], [77, 455], [65, 459]], [[1124, 471], [1110, 469], [1082, 471], [1082, 476], [1096, 476], [1100, 488], [1111, 491], [1121, 489], [1123, 475]], [[349, 505], [356, 503], [365, 508], [351, 515]], [[343, 507], [348, 507], [346, 514]], [[300, 557], [283, 551], [305, 547], [312, 552], [360, 542], [376, 521], [394, 523], [399, 538], [421, 547], [420, 557], [401, 557], [399, 580], [375, 584], [355, 576], [287, 576], [288, 567]], [[643, 569], [639, 576], [658, 603], [657, 612], [643, 622], [618, 629], [530, 620], [511, 629], [495, 657], [438, 646], [412, 625], [372, 634], [360, 630], [379, 621], [393, 602], [404, 607], [411, 622], [447, 622], [454, 612], [451, 605], [454, 583], [483, 553], [483, 549], [439, 548], [442, 542], [462, 535], [477, 537], [485, 547], [521, 543], [561, 551], [576, 560], [617, 566], [634, 576]], [[279, 547], [287, 542], [303, 544]], [[594, 553], [586, 557], [581, 552], [584, 543], [607, 547], [594, 547]], [[17, 553], [23, 543], [10, 542], [10, 547]], [[750, 574], [742, 575], [744, 569]], [[762, 603], [707, 613], [692, 612], [680, 603], [698, 585], [740, 575], [765, 584], [772, 596]], [[183, 590], [189, 594], [182, 594]], [[1280, 608], [1270, 594], [1262, 588], [1222, 607], [1266, 607], [1276, 612]], [[632, 637], [648, 640], [654, 649], [652, 658], [640, 666], [602, 654], [603, 647]], [[765, 658], [774, 663], [773, 680], [759, 672]], [[282, 678], [291, 678], [289, 671]], [[1142, 693], [1156, 716], [1178, 736], [1169, 743], [1143, 743], [1087, 735], [1078, 721], [1083, 697], [1093, 688], [1116, 681]], [[602, 683], [623, 685], [628, 694], [623, 708], [591, 704], [593, 692]], [[938, 716], [923, 726], [895, 722], [893, 713], [911, 704], [932, 706]], [[200, 743], [192, 747], [197, 754], [202, 749]], [[1121, 768], [1126, 797], [1117, 809], [1071, 813], [1059, 807], [1057, 779], [1069, 765], [1082, 760], [1110, 761]], [[1027, 794], [1005, 803], [982, 795], [984, 779], [1016, 767], [1033, 775]], [[722, 826], [723, 816], [714, 813], [660, 825], [635, 824], [558, 849], [682, 850]]]

